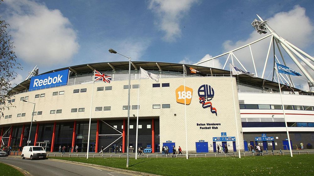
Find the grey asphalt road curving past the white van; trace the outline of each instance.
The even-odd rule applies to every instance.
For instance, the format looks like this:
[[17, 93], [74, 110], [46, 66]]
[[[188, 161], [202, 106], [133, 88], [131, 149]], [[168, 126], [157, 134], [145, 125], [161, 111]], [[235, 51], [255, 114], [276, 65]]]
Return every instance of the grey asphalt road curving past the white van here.
[[68, 163], [54, 160], [30, 160], [21, 157], [0, 157], [0, 162], [14, 165], [34, 176], [42, 175], [110, 175], [110, 176], [129, 176], [132, 173], [123, 173], [107, 168], [89, 166], [77, 163]]

